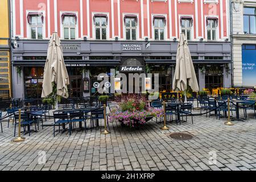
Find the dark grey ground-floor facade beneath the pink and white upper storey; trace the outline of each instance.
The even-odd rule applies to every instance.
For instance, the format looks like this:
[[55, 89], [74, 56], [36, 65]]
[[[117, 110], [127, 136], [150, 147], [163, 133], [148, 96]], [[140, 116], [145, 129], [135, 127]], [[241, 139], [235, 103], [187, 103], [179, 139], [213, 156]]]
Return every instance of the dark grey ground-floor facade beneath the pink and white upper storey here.
[[[48, 40], [18, 40], [13, 49], [14, 98], [40, 98]], [[159, 91], [171, 90], [178, 42], [62, 41], [68, 69], [69, 96], [92, 96], [97, 75], [110, 69], [122, 72], [159, 73]], [[231, 87], [230, 42], [189, 42], [200, 90]], [[125, 73], [134, 73], [126, 71]]]

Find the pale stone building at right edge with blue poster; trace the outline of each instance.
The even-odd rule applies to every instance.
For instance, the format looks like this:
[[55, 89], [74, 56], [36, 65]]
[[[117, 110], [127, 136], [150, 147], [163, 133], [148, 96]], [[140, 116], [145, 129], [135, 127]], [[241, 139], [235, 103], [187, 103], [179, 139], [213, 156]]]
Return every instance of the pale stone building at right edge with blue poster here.
[[255, 87], [256, 1], [232, 1], [232, 38], [234, 85]]

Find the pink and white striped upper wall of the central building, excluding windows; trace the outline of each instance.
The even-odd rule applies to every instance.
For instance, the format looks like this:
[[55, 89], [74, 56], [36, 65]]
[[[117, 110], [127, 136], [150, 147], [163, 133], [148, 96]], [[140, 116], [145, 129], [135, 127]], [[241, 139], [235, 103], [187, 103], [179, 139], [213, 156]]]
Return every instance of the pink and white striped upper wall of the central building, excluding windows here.
[[155, 18], [164, 19], [164, 40], [179, 38], [182, 19], [191, 19], [191, 40], [208, 40], [209, 19], [217, 23], [216, 40], [229, 36], [229, 1], [226, 0], [13, 0], [12, 6], [13, 36], [24, 39], [31, 39], [27, 20], [30, 13], [43, 14], [43, 39], [49, 39], [53, 31], [63, 35], [62, 18], [68, 14], [76, 16], [76, 39], [84, 36], [96, 39], [97, 15], [107, 19], [107, 40], [115, 37], [126, 40], [126, 17], [137, 19], [136, 40], [155, 40]]

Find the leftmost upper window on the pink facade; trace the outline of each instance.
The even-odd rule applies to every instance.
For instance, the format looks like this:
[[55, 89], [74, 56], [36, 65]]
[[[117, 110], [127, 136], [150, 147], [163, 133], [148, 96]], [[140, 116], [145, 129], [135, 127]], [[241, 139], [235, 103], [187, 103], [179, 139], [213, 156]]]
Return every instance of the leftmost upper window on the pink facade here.
[[30, 38], [43, 39], [43, 13], [28, 13], [27, 22], [30, 26]]

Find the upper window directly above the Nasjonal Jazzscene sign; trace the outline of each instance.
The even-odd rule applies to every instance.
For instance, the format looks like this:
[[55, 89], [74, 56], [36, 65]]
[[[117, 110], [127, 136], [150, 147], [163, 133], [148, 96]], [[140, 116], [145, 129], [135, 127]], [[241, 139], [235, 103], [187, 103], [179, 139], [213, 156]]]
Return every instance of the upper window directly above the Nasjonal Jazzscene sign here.
[[137, 39], [137, 16], [136, 15], [125, 15], [125, 34], [126, 40]]

